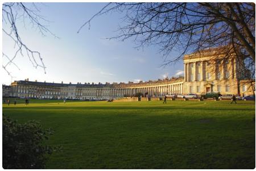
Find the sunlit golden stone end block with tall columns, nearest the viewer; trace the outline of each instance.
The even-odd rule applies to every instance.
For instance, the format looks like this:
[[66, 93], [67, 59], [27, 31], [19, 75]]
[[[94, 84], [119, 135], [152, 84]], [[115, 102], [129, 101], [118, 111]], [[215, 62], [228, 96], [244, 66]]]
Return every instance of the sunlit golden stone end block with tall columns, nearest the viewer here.
[[[200, 53], [185, 55], [184, 60], [184, 90], [187, 93], [205, 94], [218, 91], [221, 94], [253, 94], [253, 86], [245, 84], [243, 76], [238, 72], [243, 67], [238, 64], [236, 56], [225, 59], [217, 48], [207, 49]], [[248, 81], [247, 81], [248, 82]], [[243, 91], [241, 87], [243, 86]]]

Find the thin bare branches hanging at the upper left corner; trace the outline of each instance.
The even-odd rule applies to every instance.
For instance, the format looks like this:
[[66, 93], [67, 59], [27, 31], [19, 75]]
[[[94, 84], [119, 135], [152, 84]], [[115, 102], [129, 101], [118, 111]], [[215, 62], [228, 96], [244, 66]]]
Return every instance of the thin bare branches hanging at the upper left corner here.
[[[55, 36], [47, 26], [43, 24], [43, 22], [49, 22], [44, 19], [43, 16], [40, 15], [40, 9], [35, 3], [21, 3], [21, 2], [10, 2], [3, 3], [2, 5], [2, 23], [3, 23], [3, 34], [10, 37], [11, 40], [14, 41], [14, 56], [10, 56], [6, 54], [3, 49], [2, 57], [7, 59], [6, 64], [3, 64], [2, 67], [6, 72], [13, 78], [10, 70], [7, 67], [11, 64], [15, 65], [18, 69], [18, 65], [15, 64], [14, 59], [18, 55], [26, 54], [28, 59], [31, 61], [32, 65], [35, 68], [43, 68], [46, 73], [46, 66], [44, 65], [43, 58], [40, 55], [40, 52], [35, 51], [28, 47], [26, 43], [21, 39], [19, 34], [19, 28], [17, 21], [22, 20], [24, 26], [26, 23], [32, 24], [32, 27], [36, 28], [42, 34], [42, 36], [46, 36], [46, 34], [51, 34]], [[57, 36], [55, 36], [57, 37]]]

